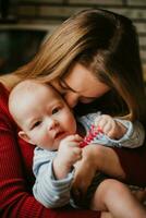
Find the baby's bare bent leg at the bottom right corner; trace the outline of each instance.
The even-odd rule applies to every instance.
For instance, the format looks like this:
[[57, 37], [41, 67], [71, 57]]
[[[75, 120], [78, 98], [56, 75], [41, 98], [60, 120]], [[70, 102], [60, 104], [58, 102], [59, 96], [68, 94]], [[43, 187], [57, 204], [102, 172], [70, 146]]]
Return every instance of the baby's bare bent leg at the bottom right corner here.
[[[110, 211], [104, 217], [145, 218], [146, 210], [121, 182], [107, 179], [100, 183], [92, 199], [92, 209]], [[102, 216], [101, 216], [102, 217]]]

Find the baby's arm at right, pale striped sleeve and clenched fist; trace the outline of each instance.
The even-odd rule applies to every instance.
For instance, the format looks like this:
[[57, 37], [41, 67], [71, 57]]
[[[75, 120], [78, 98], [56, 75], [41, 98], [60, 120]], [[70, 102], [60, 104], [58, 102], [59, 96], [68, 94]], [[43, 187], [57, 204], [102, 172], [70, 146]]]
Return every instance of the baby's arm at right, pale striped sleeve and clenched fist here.
[[[122, 147], [139, 147], [145, 140], [145, 130], [143, 125], [135, 121], [132, 123], [127, 120], [111, 118], [110, 116], [102, 114], [95, 120], [95, 125], [100, 126], [109, 146]], [[108, 142], [109, 141], [109, 142]], [[100, 142], [98, 142], [100, 144]]]

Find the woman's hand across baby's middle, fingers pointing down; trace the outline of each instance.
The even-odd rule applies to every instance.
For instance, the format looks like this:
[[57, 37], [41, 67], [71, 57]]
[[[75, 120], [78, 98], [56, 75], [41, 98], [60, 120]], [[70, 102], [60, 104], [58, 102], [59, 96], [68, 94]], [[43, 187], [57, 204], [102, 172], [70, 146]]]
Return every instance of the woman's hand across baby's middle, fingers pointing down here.
[[73, 196], [77, 199], [84, 196], [97, 171], [96, 146], [88, 145], [83, 148], [82, 159], [75, 164], [75, 175], [72, 187]]

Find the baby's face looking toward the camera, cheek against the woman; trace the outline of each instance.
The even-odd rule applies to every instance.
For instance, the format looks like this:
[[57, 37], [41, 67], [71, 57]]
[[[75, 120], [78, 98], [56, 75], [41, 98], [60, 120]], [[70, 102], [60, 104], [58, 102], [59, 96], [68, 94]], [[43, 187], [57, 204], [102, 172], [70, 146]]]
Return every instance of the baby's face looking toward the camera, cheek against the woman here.
[[76, 132], [74, 116], [62, 97], [42, 85], [23, 100], [20, 125], [32, 144], [49, 150], [58, 149], [62, 138]]

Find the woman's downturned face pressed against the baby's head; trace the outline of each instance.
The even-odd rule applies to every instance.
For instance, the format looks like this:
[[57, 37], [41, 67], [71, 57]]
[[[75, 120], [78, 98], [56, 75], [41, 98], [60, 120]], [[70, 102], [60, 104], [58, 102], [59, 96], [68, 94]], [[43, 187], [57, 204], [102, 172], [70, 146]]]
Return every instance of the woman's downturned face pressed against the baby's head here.
[[76, 63], [65, 77], [57, 78], [51, 84], [64, 96], [71, 108], [78, 101], [89, 104], [110, 89], [80, 63]]

